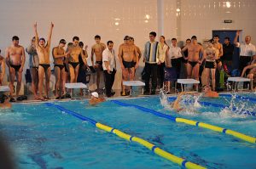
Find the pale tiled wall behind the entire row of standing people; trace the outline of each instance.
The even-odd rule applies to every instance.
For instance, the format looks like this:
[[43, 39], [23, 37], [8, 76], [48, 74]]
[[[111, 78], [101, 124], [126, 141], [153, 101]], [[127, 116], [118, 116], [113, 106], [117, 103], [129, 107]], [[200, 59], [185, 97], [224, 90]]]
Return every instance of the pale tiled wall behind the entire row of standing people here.
[[[230, 8], [224, 1], [214, 0], [2, 0], [0, 48], [3, 55], [14, 35], [26, 47], [35, 21], [40, 37], [47, 36], [50, 21], [55, 23], [52, 47], [61, 38], [70, 42], [79, 36], [89, 46], [89, 53], [96, 34], [102, 36], [102, 42], [113, 40], [116, 52], [125, 35], [135, 37], [143, 49], [149, 31], [165, 35], [170, 42], [172, 37], [183, 41], [192, 35], [201, 41], [212, 37], [212, 30], [241, 29], [255, 42], [255, 7], [253, 0], [230, 0]], [[224, 20], [233, 23], [224, 24]], [[116, 78], [114, 87], [119, 88], [120, 73]]]

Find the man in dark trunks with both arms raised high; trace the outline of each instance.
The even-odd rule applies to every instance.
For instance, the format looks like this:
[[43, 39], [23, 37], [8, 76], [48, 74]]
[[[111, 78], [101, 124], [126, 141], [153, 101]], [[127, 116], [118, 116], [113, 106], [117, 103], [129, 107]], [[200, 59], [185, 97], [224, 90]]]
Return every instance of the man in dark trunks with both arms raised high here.
[[[35, 46], [38, 53], [39, 65], [38, 65], [38, 90], [39, 95], [38, 99], [45, 101], [49, 99], [49, 78], [50, 78], [50, 65], [49, 65], [49, 48], [50, 48], [50, 40], [52, 35], [54, 24], [51, 22], [49, 27], [49, 34], [47, 39], [47, 44], [45, 44], [45, 39], [38, 37], [38, 25], [35, 23], [34, 25], [34, 33], [36, 37]], [[45, 93], [46, 97], [43, 97], [43, 83], [44, 83], [44, 75], [45, 75]]]

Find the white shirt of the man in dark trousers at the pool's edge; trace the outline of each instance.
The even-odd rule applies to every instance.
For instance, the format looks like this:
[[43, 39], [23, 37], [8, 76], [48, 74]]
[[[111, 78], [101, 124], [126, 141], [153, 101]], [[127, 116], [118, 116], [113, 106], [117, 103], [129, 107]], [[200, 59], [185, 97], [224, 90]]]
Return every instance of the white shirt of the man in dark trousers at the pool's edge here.
[[106, 65], [104, 61], [108, 61], [108, 69], [113, 71], [113, 69], [116, 69], [116, 62], [115, 62], [115, 53], [114, 50], [110, 51], [108, 48], [106, 48], [102, 53], [102, 67], [103, 70], [108, 70], [106, 68]]

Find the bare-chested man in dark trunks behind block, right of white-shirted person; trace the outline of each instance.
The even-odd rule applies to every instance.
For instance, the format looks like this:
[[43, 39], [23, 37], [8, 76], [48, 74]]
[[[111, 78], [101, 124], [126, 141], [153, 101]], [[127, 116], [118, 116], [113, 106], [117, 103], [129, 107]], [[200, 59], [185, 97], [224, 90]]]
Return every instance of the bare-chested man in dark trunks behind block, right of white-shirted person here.
[[[203, 48], [197, 42], [197, 37], [191, 37], [191, 44], [185, 46], [182, 52], [188, 49], [188, 64], [187, 64], [187, 78], [195, 76], [196, 80], [199, 80], [199, 68], [202, 63], [202, 59], [199, 59], [199, 54], [203, 54]], [[192, 75], [192, 72], [194, 75]]]

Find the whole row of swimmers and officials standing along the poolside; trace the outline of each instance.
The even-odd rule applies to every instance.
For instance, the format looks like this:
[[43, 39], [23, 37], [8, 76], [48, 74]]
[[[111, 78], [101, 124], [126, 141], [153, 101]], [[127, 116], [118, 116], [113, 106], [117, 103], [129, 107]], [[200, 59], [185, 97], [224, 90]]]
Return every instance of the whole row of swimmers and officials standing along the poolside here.
[[[49, 78], [51, 74], [49, 52], [51, 46], [51, 36], [54, 24], [49, 27], [49, 35], [47, 40], [38, 37], [38, 25], [34, 24], [34, 37], [31, 44], [26, 50], [20, 46], [19, 37], [12, 38], [12, 45], [6, 48], [5, 59], [0, 57], [1, 76], [0, 82], [3, 82], [5, 74], [5, 63], [9, 67], [9, 88], [10, 101], [14, 102], [13, 92], [16, 92], [17, 99], [20, 99], [20, 86], [22, 80], [22, 72], [24, 69], [26, 57], [25, 51], [30, 55], [29, 66], [32, 75], [32, 93], [34, 99], [47, 100], [49, 99]], [[237, 42], [239, 31], [236, 33], [234, 44], [241, 48], [240, 70], [248, 64], [255, 64], [255, 47], [250, 43], [251, 37], [247, 36], [245, 42]], [[216, 89], [215, 71], [216, 69], [224, 69], [224, 65], [232, 64], [232, 55], [234, 46], [230, 44], [230, 38], [224, 39], [224, 45], [219, 43], [219, 37], [214, 36], [212, 40], [207, 42], [207, 48], [197, 42], [197, 37], [193, 36], [186, 40], [186, 45], [183, 48], [177, 47], [177, 39], [172, 38], [172, 45], [166, 44], [166, 38], [160, 36], [159, 42], [155, 40], [156, 33], [149, 33], [149, 41], [144, 46], [143, 54], [135, 44], [134, 38], [125, 36], [124, 43], [119, 45], [118, 57], [113, 50], [113, 41], [108, 41], [107, 46], [101, 42], [101, 37], [96, 35], [94, 44], [91, 48], [91, 66], [87, 65], [88, 53], [87, 46], [84, 48], [84, 43], [79, 42], [79, 37], [73, 37], [73, 42], [68, 43], [65, 50], [66, 40], [61, 39], [58, 46], [52, 49], [55, 70], [55, 98], [69, 98], [65, 83], [67, 82], [84, 82], [86, 80], [86, 72], [96, 72], [96, 87], [100, 90], [101, 75], [104, 75], [105, 93], [111, 97], [115, 93], [112, 90], [114, 76], [116, 73], [116, 65], [119, 65], [122, 70], [122, 91], [121, 95], [130, 94], [130, 88], [125, 87], [123, 82], [132, 81], [135, 78], [135, 72], [139, 66], [139, 60], [143, 58], [145, 94], [155, 94], [156, 87], [159, 84], [163, 87], [165, 81], [165, 68], [172, 67], [176, 70], [177, 78], [180, 76], [182, 63], [185, 65], [187, 78], [200, 78], [200, 66], [205, 63], [204, 68], [207, 75], [207, 85], [212, 82], [212, 90]], [[83, 49], [84, 48], [84, 49]], [[0, 51], [1, 52], [1, 51]], [[94, 56], [96, 60], [94, 60]], [[254, 56], [254, 59], [253, 59]], [[247, 67], [251, 69], [251, 67]], [[103, 73], [102, 73], [103, 72]], [[255, 69], [250, 71], [255, 75]], [[245, 72], [242, 73], [242, 76]], [[210, 78], [211, 75], [211, 78]], [[45, 85], [44, 83], [45, 76]], [[15, 77], [17, 81], [16, 89], [14, 90]], [[253, 78], [252, 75], [250, 78]], [[150, 82], [151, 79], [151, 82]], [[150, 85], [151, 84], [151, 85]], [[45, 86], [45, 95], [43, 96], [43, 86]], [[167, 92], [170, 92], [170, 83], [166, 83]], [[22, 99], [22, 98], [21, 98]]]

